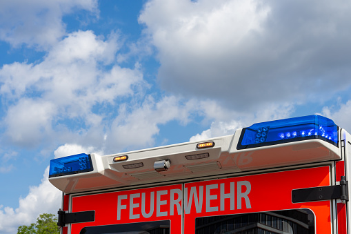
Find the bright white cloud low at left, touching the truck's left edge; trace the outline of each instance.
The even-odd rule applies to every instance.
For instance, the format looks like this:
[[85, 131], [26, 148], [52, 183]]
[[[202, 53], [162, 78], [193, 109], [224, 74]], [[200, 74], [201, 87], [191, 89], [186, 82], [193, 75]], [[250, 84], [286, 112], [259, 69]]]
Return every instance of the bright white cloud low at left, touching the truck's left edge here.
[[19, 207], [0, 206], [0, 232], [17, 233], [18, 226], [29, 225], [41, 213], [56, 214], [61, 208], [62, 192], [48, 181], [49, 168], [46, 168], [39, 186], [31, 186], [26, 197], [19, 199]]

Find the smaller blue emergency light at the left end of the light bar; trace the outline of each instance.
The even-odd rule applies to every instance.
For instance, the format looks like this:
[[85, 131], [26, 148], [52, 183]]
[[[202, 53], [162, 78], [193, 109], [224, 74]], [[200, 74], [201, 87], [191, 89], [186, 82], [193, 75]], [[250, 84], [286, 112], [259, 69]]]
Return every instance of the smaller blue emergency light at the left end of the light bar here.
[[90, 155], [81, 153], [50, 160], [49, 178], [92, 171]]

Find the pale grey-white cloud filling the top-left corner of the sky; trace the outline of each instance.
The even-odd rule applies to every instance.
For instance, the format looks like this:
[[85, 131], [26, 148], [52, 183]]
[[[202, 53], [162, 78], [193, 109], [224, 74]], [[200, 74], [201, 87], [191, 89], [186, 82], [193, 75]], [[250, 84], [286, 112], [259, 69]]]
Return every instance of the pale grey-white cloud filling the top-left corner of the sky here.
[[97, 14], [97, 1], [0, 1], [0, 39], [14, 47], [48, 49], [66, 35], [63, 15], [78, 9]]

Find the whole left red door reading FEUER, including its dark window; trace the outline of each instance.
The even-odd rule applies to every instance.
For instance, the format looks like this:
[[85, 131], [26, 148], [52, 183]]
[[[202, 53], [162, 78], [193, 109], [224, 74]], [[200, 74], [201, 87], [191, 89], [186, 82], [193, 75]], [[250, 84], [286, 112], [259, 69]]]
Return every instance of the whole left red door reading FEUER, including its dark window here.
[[72, 197], [72, 212], [95, 211], [70, 233], [181, 233], [182, 184]]

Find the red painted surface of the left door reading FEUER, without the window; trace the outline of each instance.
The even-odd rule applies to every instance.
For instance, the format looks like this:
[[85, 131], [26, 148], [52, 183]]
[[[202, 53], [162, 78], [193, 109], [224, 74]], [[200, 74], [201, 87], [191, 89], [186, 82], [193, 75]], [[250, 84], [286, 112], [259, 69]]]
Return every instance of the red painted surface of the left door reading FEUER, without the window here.
[[170, 220], [171, 233], [181, 233], [182, 196], [182, 185], [177, 184], [73, 197], [72, 212], [95, 211], [95, 221], [72, 224], [71, 233], [86, 226], [159, 220]]

